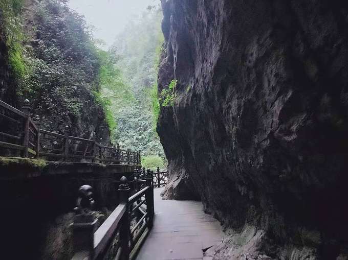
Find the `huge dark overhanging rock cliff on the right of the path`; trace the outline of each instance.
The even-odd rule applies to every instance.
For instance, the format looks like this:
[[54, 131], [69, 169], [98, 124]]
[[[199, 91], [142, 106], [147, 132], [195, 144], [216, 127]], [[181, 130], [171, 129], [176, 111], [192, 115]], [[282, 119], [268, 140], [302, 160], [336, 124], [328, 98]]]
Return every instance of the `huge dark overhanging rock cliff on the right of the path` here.
[[348, 4], [162, 7], [164, 196], [198, 194], [230, 227], [213, 257], [347, 259]]

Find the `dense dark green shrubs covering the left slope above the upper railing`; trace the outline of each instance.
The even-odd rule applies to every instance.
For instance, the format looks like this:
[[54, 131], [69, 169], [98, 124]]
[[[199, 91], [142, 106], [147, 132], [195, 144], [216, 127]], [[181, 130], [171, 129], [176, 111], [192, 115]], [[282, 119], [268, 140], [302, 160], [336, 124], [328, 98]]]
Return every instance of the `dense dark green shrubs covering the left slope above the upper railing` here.
[[114, 130], [107, 96], [133, 99], [115, 67], [115, 51], [99, 48], [101, 42], [93, 39], [84, 17], [69, 9], [66, 0], [31, 1], [25, 8], [24, 3], [0, 1], [0, 29], [6, 35], [18, 96], [31, 101], [46, 129], [71, 125], [85, 131], [91, 119], [100, 117]]

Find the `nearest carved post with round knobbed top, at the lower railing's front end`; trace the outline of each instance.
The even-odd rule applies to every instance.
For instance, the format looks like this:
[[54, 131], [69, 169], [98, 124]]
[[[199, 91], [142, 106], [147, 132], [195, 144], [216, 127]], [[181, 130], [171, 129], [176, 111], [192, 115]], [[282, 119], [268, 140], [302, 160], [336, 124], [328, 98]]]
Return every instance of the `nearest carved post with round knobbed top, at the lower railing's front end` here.
[[[78, 259], [93, 259], [94, 256], [94, 231], [98, 219], [92, 211], [94, 206], [93, 188], [90, 185], [83, 185], [79, 188], [77, 207], [74, 208], [73, 245], [74, 255]], [[76, 258], [77, 258], [76, 257]], [[74, 258], [73, 258], [74, 259]]]

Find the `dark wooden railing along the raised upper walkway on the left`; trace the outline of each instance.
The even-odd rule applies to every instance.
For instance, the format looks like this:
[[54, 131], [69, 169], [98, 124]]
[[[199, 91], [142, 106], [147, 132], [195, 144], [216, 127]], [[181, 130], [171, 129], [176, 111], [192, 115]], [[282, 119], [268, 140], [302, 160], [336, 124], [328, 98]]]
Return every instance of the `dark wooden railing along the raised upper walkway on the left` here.
[[39, 117], [30, 118], [30, 103], [25, 100], [20, 111], [0, 101], [0, 155], [44, 158], [51, 161], [91, 161], [110, 164], [141, 164], [140, 151], [133, 152], [117, 147], [103, 146], [102, 139], [70, 135], [68, 126], [64, 134], [40, 129]]

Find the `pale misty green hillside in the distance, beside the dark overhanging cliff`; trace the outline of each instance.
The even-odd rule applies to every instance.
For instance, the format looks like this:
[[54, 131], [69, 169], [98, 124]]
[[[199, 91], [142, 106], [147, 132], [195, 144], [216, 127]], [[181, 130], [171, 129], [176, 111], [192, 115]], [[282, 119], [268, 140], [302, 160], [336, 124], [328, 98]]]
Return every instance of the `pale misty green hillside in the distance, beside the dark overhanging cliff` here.
[[134, 99], [129, 102], [129, 99], [111, 98], [111, 109], [117, 121], [117, 130], [112, 136], [114, 143], [141, 150], [144, 156], [164, 159], [155, 131], [160, 111], [157, 72], [164, 41], [162, 18], [160, 7], [151, 6], [141, 18], [129, 22], [124, 32], [116, 37], [113, 44], [118, 55], [116, 67], [121, 70], [124, 82], [132, 88]]

